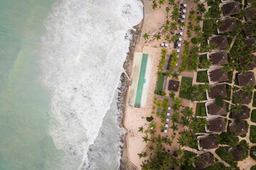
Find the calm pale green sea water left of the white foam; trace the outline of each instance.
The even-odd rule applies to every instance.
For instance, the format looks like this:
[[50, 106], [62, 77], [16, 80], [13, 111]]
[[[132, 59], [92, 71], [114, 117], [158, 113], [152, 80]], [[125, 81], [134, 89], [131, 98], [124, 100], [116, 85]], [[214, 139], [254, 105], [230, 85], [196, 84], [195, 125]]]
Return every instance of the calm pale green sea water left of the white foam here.
[[[55, 0], [0, 0], [0, 169], [48, 169], [50, 91], [38, 79], [43, 20]], [[54, 163], [55, 164], [55, 163]]]

